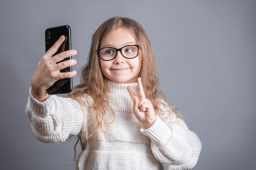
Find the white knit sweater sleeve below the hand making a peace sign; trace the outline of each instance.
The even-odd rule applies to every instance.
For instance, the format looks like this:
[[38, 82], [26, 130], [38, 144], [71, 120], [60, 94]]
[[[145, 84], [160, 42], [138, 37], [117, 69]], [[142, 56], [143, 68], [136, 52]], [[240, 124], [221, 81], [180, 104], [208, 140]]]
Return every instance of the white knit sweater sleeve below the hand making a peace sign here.
[[150, 137], [153, 154], [168, 170], [189, 170], [197, 163], [201, 151], [200, 139], [181, 119], [165, 124], [157, 116], [153, 126], [141, 128], [141, 132]]

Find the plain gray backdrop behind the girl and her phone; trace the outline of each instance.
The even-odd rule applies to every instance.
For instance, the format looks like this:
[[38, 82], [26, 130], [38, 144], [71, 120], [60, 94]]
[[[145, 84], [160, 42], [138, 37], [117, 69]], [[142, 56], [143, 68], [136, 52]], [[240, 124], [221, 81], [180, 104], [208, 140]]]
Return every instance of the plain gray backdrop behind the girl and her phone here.
[[[130, 17], [152, 42], [160, 81], [202, 141], [196, 170], [241, 170], [256, 160], [255, 0], [1, 0], [0, 169], [74, 170], [76, 138], [44, 144], [25, 113], [47, 27], [69, 24], [80, 71], [98, 26]], [[74, 84], [79, 76], [74, 77]], [[78, 148], [79, 150], [79, 148]]]

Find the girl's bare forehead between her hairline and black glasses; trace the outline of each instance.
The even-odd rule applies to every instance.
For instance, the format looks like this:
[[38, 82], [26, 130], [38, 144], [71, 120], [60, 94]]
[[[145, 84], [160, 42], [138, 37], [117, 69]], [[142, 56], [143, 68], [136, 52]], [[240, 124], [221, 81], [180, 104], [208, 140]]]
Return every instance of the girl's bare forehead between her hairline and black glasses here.
[[137, 43], [138, 40], [132, 31], [126, 28], [118, 28], [103, 36], [100, 42], [100, 48], [106, 46], [121, 48], [124, 45]]

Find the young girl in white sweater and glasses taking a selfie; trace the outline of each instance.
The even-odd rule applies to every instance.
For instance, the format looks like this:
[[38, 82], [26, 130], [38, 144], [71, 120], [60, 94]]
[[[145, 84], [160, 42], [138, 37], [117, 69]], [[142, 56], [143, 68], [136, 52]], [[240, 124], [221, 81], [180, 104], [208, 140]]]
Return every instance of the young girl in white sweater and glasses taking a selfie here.
[[77, 170], [188, 170], [195, 166], [201, 143], [182, 115], [168, 105], [158, 82], [157, 66], [146, 32], [130, 19], [115, 17], [92, 36], [81, 84], [67, 97], [48, 95], [56, 80], [76, 75], [59, 70], [76, 64], [52, 57], [62, 36], [45, 53], [31, 78], [27, 115], [34, 135], [45, 143], [80, 139]]

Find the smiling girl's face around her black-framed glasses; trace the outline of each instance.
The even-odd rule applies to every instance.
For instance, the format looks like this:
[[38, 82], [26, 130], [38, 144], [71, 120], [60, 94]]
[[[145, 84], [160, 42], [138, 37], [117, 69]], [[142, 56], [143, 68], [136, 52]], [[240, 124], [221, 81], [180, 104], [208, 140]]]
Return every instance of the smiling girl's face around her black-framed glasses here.
[[[114, 47], [120, 49], [127, 45], [139, 45], [133, 34], [127, 29], [119, 28], [105, 35], [101, 40], [100, 48]], [[110, 61], [100, 58], [102, 73], [113, 82], [117, 83], [134, 83], [137, 82], [141, 68], [141, 52], [135, 58], [125, 58], [121, 51]]]

